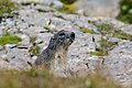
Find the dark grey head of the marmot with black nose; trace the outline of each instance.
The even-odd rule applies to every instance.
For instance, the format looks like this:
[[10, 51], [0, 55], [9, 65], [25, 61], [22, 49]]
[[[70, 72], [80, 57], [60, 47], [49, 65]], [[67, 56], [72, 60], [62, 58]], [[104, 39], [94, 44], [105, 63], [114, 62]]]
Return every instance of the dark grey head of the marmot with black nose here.
[[74, 42], [75, 33], [70, 31], [59, 31], [54, 34], [54, 36], [50, 41], [48, 48], [51, 50], [67, 50], [68, 46]]

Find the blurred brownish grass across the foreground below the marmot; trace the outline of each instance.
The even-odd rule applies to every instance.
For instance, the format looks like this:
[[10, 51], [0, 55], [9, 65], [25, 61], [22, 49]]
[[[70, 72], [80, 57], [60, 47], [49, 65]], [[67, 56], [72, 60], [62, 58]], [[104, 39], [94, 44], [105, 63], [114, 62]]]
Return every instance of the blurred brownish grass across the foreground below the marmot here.
[[111, 78], [91, 73], [88, 76], [61, 78], [46, 69], [0, 72], [0, 88], [121, 88]]

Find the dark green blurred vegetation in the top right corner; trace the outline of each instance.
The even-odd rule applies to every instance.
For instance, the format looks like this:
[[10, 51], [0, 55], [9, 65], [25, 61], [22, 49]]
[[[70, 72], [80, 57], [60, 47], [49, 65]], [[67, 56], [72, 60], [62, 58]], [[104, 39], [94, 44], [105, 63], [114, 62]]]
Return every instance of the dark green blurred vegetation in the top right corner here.
[[119, 20], [132, 23], [132, 0], [121, 0]]

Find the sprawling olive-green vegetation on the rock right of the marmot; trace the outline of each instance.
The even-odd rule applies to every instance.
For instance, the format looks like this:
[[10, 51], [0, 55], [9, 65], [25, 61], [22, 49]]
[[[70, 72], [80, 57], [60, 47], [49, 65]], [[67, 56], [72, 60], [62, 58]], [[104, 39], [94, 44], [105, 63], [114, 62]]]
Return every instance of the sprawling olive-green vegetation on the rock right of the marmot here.
[[102, 38], [99, 41], [100, 47], [96, 50], [96, 52], [91, 52], [91, 55], [97, 56], [106, 56], [108, 55], [108, 52], [112, 50], [113, 46], [118, 45], [118, 42], [109, 42], [108, 40], [111, 37], [118, 37], [120, 40], [130, 40], [132, 41], [132, 35], [128, 34], [119, 29], [114, 29], [111, 24], [97, 24], [95, 22], [90, 22], [95, 26], [98, 28], [98, 31], [100, 32]]

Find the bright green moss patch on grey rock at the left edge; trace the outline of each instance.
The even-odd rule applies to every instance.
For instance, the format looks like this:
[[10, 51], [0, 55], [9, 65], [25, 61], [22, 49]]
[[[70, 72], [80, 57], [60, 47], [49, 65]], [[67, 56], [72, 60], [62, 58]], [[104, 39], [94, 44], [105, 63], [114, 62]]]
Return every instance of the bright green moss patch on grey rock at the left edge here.
[[0, 45], [6, 45], [6, 44], [16, 44], [21, 42], [22, 40], [15, 35], [11, 34], [6, 34], [0, 37]]

